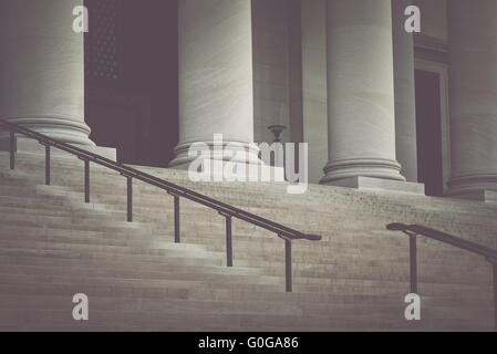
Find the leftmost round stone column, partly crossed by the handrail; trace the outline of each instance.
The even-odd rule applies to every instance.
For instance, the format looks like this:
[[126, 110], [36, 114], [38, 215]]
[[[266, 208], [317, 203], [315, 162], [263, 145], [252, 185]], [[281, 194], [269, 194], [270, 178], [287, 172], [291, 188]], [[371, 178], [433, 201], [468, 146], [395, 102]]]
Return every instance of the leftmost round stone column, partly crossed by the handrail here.
[[82, 4], [1, 1], [0, 119], [93, 146], [84, 123], [83, 33], [73, 31], [73, 9]]

